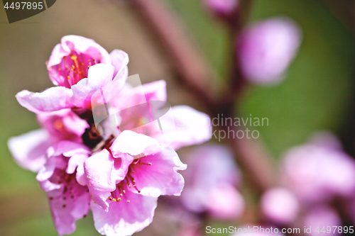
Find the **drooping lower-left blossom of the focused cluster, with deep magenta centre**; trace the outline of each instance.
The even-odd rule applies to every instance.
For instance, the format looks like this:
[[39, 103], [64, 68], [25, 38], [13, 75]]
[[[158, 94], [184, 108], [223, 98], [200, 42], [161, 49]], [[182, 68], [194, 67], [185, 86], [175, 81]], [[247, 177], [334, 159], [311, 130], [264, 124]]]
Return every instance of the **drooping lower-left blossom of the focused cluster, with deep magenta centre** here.
[[58, 235], [75, 231], [75, 221], [89, 212], [90, 196], [84, 178], [83, 163], [91, 151], [70, 141], [50, 147], [47, 160], [37, 175], [47, 192]]

